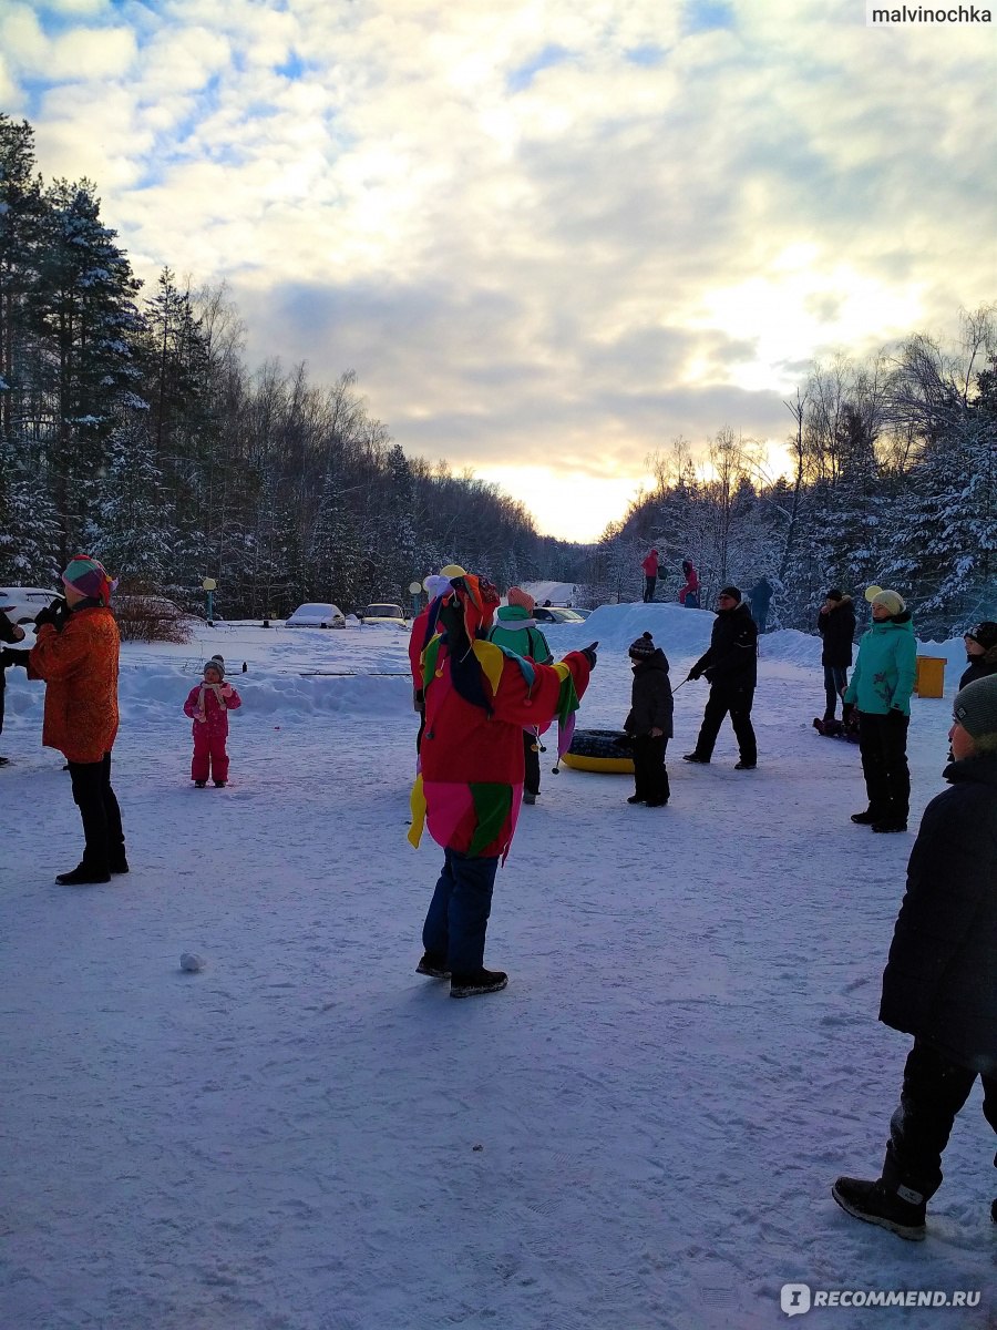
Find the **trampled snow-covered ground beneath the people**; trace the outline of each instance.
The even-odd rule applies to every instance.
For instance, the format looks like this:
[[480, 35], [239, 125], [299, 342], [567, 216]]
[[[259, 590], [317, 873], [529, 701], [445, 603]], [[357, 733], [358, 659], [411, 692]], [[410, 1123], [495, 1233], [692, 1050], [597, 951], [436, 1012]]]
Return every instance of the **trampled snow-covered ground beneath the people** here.
[[[580, 725], [618, 726], [626, 646], [673, 684], [713, 616], [597, 610]], [[122, 654], [116, 787], [133, 871], [65, 888], [80, 835], [8, 672], [0, 1036], [4, 1330], [754, 1330], [780, 1287], [980, 1290], [974, 1310], [815, 1309], [857, 1326], [997, 1325], [993, 1133], [978, 1087], [927, 1242], [857, 1224], [908, 1041], [879, 983], [913, 833], [876, 837], [857, 750], [819, 738], [820, 645], [762, 640], [759, 769], [681, 761], [667, 809], [544, 762], [456, 1003], [413, 974], [440, 851], [405, 842], [405, 634], [202, 629]], [[233, 785], [194, 790], [183, 698], [213, 652], [243, 696]], [[915, 818], [942, 786], [946, 698], [915, 700]], [[242, 662], [247, 670], [241, 673]], [[205, 959], [179, 968], [182, 952]]]

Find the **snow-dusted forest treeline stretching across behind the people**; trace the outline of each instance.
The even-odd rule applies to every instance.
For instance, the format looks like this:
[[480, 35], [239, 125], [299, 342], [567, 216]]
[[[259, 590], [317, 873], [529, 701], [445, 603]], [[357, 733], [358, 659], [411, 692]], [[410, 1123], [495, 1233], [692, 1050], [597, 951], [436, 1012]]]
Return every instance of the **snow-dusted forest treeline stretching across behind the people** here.
[[94, 184], [45, 184], [31, 125], [0, 114], [3, 581], [51, 584], [86, 549], [129, 589], [193, 605], [213, 577], [222, 613], [262, 617], [403, 600], [456, 561], [600, 604], [638, 597], [654, 544], [659, 597], [682, 559], [707, 605], [764, 576], [770, 626], [811, 629], [832, 584], [896, 587], [921, 633], [997, 617], [992, 306], [962, 315], [958, 346], [915, 334], [814, 366], [787, 408], [784, 458], [728, 427], [706, 448], [675, 439], [598, 543], [541, 536], [497, 485], [407, 456], [352, 372], [328, 386], [303, 364], [250, 370], [223, 286], [165, 267], [146, 291]]

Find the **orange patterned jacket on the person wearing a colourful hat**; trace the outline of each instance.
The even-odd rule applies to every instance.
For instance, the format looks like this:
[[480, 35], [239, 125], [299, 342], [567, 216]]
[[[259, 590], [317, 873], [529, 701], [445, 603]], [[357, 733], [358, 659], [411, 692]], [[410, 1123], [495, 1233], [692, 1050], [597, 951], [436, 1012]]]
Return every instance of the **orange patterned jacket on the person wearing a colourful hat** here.
[[100, 762], [118, 732], [118, 652], [114, 616], [104, 605], [74, 609], [61, 633], [43, 624], [28, 656], [28, 677], [44, 678], [41, 742], [66, 762]]

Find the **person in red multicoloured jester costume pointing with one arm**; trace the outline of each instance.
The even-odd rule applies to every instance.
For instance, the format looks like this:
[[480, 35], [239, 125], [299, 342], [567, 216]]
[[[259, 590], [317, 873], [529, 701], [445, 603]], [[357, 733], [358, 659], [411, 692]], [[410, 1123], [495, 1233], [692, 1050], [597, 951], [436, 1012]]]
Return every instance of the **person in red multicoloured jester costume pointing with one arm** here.
[[425, 733], [408, 839], [417, 847], [428, 825], [444, 862], [416, 972], [449, 979], [451, 998], [498, 992], [508, 983], [508, 975], [484, 968], [484, 952], [496, 870], [522, 802], [522, 730], [557, 718], [564, 746], [570, 743], [598, 645], [537, 665], [487, 640], [497, 605], [489, 581], [453, 577], [433, 601], [421, 658]]

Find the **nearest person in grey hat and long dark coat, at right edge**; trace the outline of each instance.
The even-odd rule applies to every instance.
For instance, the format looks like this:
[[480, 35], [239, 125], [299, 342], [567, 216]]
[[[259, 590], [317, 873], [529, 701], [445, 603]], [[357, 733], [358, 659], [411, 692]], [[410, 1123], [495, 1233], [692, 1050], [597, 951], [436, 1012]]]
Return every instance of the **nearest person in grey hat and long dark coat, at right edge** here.
[[[831, 1189], [849, 1214], [915, 1241], [977, 1076], [997, 1132], [997, 674], [960, 689], [953, 716], [952, 789], [924, 810], [883, 975], [879, 1019], [915, 1039], [883, 1176]], [[997, 1200], [990, 1213], [997, 1222]]]

